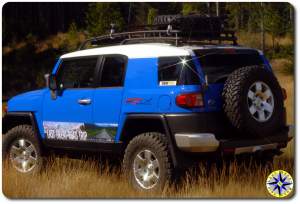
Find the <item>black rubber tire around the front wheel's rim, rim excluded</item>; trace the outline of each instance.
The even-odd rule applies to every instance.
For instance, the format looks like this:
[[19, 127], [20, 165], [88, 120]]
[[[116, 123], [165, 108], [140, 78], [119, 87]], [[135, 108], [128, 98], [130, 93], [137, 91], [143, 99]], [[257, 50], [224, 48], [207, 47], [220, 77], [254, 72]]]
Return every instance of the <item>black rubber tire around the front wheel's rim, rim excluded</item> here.
[[[10, 161], [10, 148], [15, 140], [26, 139], [32, 143], [36, 149], [37, 153], [37, 162], [35, 167], [24, 174], [36, 174], [39, 173], [42, 169], [43, 158], [42, 158], [42, 148], [40, 141], [38, 140], [34, 129], [30, 125], [19, 125], [10, 129], [2, 138], [2, 160], [5, 161], [5, 164], [8, 164], [11, 169], [15, 169]], [[15, 169], [16, 170], [16, 169]], [[16, 170], [19, 172], [18, 170]]]

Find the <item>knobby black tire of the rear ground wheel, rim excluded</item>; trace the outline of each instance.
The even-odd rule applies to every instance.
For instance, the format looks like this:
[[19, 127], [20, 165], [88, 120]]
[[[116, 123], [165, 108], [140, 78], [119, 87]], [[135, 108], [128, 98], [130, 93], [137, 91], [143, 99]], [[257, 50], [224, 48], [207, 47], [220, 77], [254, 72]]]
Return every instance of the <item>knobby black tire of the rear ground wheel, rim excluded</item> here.
[[[151, 189], [142, 188], [136, 181], [133, 173], [134, 158], [140, 151], [146, 149], [156, 155], [160, 166], [160, 179]], [[148, 132], [134, 137], [125, 150], [123, 171], [131, 185], [139, 191], [159, 191], [164, 189], [169, 184], [173, 172], [165, 135], [157, 132]]]

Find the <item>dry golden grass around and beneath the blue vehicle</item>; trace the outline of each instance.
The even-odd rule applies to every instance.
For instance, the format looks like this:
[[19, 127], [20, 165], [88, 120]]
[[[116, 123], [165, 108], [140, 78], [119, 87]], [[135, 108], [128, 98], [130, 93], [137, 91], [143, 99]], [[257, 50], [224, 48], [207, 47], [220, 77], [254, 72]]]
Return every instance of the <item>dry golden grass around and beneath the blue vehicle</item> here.
[[[288, 123], [294, 124], [294, 78], [280, 72], [281, 61], [274, 61], [273, 66], [280, 84], [287, 90]], [[212, 168], [207, 173], [200, 165], [182, 176], [181, 185], [159, 193], [133, 190], [119, 173], [118, 166], [108, 166], [106, 162], [91, 159], [51, 157], [46, 170], [35, 176], [19, 175], [4, 166], [3, 193], [9, 198], [272, 198], [265, 187], [267, 175], [277, 169], [294, 175], [294, 140], [284, 154], [275, 157], [271, 169], [246, 168], [233, 161], [228, 171]]]

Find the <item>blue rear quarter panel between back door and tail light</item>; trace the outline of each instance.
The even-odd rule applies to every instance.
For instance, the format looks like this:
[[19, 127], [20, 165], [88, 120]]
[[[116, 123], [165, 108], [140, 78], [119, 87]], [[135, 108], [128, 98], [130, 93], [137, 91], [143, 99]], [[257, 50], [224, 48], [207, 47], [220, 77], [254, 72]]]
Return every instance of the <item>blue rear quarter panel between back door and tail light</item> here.
[[215, 107], [207, 105], [204, 108], [194, 109], [176, 106], [176, 96], [189, 92], [201, 92], [201, 85], [159, 85], [158, 58], [129, 59], [116, 142], [119, 141], [124, 122], [130, 114], [191, 113], [216, 110]]

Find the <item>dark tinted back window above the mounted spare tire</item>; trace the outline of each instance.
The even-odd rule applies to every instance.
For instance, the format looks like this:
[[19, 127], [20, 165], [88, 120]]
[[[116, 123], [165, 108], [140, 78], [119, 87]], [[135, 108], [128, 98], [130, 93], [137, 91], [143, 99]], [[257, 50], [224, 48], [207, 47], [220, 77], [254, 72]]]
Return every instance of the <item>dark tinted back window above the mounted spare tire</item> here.
[[209, 83], [222, 82], [237, 68], [264, 64], [255, 50], [211, 49], [194, 52]]

